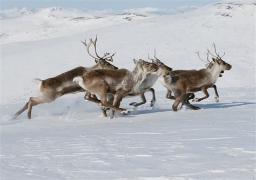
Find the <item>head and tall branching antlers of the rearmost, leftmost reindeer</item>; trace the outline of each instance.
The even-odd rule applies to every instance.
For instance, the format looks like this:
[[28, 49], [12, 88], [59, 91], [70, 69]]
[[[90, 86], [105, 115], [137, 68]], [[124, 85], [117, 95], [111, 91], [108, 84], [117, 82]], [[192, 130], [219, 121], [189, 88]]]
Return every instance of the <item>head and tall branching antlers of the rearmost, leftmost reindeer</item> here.
[[[106, 53], [104, 53], [104, 56], [103, 56], [103, 57], [99, 57], [99, 56], [98, 56], [98, 53], [97, 53], [97, 50], [96, 50], [97, 39], [98, 39], [98, 37], [97, 37], [97, 35], [96, 35], [95, 40], [93, 41], [92, 38], [90, 38], [90, 39], [89, 39], [90, 42], [89, 42], [88, 44], [86, 44], [86, 39], [84, 40], [84, 42], [82, 41], [82, 43], [86, 46], [87, 53], [88, 53], [92, 58], [95, 59], [95, 63], [98, 64], [98, 65], [100, 65], [100, 67], [101, 67], [102, 69], [106, 69], [106, 70], [117, 70], [118, 67], [116, 67], [116, 66], [110, 64], [109, 62], [107, 62], [107, 61], [111, 61], [111, 62], [113, 61], [113, 58], [112, 58], [112, 57], [114, 56], [114, 54], [116, 54], [116, 52], [113, 53], [111, 56], [109, 56], [110, 53], [106, 52]], [[97, 57], [92, 56], [92, 54], [89, 52], [89, 49], [90, 49], [91, 44], [93, 44], [93, 46], [94, 46], [95, 54], [96, 54]]]

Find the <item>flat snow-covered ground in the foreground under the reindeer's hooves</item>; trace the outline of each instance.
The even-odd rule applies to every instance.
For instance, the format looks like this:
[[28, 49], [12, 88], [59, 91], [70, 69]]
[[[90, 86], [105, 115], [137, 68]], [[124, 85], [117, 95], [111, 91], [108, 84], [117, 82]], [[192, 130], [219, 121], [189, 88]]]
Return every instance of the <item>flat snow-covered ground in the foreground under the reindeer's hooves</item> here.
[[253, 179], [255, 90], [219, 88], [219, 103], [179, 112], [158, 92], [153, 109], [125, 99], [131, 114], [114, 119], [82, 94], [39, 105], [32, 120], [2, 120], [2, 179]]

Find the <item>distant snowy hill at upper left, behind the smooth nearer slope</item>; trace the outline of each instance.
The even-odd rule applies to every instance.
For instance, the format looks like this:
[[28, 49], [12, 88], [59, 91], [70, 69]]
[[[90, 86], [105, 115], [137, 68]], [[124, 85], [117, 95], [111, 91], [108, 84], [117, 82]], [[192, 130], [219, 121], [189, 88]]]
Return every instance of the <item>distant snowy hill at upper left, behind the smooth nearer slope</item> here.
[[107, 11], [60, 7], [36, 10], [15, 8], [1, 11], [0, 16], [2, 44], [68, 36], [146, 18], [143, 15], [127, 12], [112, 15]]

